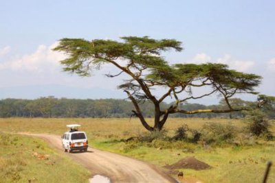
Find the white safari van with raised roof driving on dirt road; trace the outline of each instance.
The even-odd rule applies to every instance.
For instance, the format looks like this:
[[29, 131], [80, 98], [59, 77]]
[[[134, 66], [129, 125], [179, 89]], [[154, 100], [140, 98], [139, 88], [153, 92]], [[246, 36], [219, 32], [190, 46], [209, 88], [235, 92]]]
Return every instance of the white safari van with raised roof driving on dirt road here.
[[62, 138], [62, 146], [64, 151], [69, 153], [74, 150], [87, 151], [88, 140], [85, 132], [78, 131], [80, 125], [67, 125], [69, 132], [65, 132]]

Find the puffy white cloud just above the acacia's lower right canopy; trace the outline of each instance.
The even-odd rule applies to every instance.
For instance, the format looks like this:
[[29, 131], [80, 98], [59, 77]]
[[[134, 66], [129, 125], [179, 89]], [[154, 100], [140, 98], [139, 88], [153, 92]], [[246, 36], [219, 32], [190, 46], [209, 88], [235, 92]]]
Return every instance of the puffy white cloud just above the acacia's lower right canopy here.
[[222, 58], [217, 60], [211, 60], [211, 57], [206, 55], [206, 53], [199, 53], [191, 60], [195, 64], [203, 64], [207, 62], [228, 64], [230, 69], [236, 69], [237, 71], [249, 71], [254, 66], [253, 61], [248, 60], [234, 60], [229, 54], [225, 54]]

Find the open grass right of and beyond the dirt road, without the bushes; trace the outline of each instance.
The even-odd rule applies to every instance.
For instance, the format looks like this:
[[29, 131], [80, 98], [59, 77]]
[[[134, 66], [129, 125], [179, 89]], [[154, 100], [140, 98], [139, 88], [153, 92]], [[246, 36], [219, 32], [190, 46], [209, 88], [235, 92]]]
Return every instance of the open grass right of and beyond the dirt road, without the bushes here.
[[[152, 119], [148, 121], [153, 122]], [[183, 123], [189, 127], [200, 129], [206, 122], [232, 123], [241, 129], [245, 123], [241, 120], [229, 119], [168, 119], [165, 126], [169, 135]], [[0, 119], [2, 132], [34, 132], [61, 135], [66, 124], [78, 123], [88, 134], [90, 145], [99, 149], [113, 151], [125, 156], [152, 162], [159, 167], [177, 162], [186, 156], [210, 164], [213, 168], [203, 171], [184, 169], [186, 176], [197, 178], [203, 182], [261, 182], [267, 160], [275, 162], [274, 141], [255, 141], [250, 145], [215, 145], [205, 146], [200, 143], [183, 141], [167, 143], [126, 143], [121, 139], [140, 136], [146, 131], [137, 119]], [[274, 122], [272, 123], [274, 132]], [[6, 151], [5, 154], [11, 152]], [[275, 168], [272, 167], [268, 182], [275, 182]]]

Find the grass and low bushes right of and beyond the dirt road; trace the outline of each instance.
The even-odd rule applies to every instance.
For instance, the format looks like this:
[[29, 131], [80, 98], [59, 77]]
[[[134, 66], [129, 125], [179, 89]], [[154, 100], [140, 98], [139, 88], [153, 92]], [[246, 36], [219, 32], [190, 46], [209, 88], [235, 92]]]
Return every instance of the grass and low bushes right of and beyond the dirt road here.
[[[261, 118], [259, 119], [261, 123]], [[146, 120], [153, 123], [153, 119]], [[176, 169], [171, 171], [173, 175], [177, 171], [184, 171], [185, 177], [197, 178], [203, 182], [261, 182], [267, 161], [275, 162], [274, 137], [267, 135], [275, 134], [275, 121], [269, 120], [267, 130], [263, 130], [259, 136], [250, 131], [253, 129], [252, 122], [241, 119], [173, 118], [168, 119], [164, 130], [151, 133], [144, 130], [135, 118], [131, 121], [0, 119], [1, 131], [58, 135], [67, 130], [65, 125], [79, 123], [81, 129], [87, 132], [90, 145], [98, 149], [151, 162], [158, 167], [173, 164], [186, 157], [195, 157], [212, 167], [201, 171]], [[274, 167], [268, 180], [275, 182]]]

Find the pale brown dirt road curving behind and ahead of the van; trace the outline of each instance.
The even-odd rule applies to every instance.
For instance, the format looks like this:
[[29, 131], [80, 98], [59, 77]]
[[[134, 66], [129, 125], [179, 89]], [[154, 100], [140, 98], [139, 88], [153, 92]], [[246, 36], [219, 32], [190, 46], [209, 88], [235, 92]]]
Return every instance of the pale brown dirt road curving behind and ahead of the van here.
[[[61, 136], [51, 134], [26, 134], [43, 138], [52, 147], [63, 151]], [[153, 165], [107, 151], [100, 151], [89, 147], [85, 153], [65, 153], [71, 156], [76, 162], [83, 164], [91, 171], [92, 175], [104, 175], [111, 179], [111, 182], [177, 182], [173, 178], [159, 171]]]

